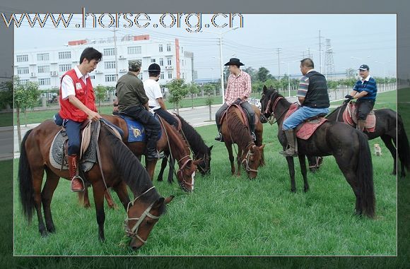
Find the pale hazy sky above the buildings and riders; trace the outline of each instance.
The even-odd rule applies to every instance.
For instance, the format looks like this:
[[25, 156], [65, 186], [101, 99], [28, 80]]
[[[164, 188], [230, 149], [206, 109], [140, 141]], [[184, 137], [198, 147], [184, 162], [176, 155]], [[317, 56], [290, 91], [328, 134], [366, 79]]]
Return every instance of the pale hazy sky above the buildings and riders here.
[[[327, 39], [330, 40], [328, 52], [333, 58], [334, 70], [344, 72], [346, 68], [358, 69], [361, 64], [370, 66], [373, 76], [395, 76], [397, 55], [397, 16], [395, 14], [245, 14], [242, 13], [242, 27], [239, 16], [233, 20], [229, 28], [216, 28], [210, 24], [211, 15], [201, 14], [201, 31], [199, 27], [189, 28], [185, 24], [186, 15], [181, 15], [180, 27], [177, 24], [171, 28], [164, 28], [158, 23], [159, 15], [149, 14], [150, 20], [143, 20], [140, 25], [149, 23], [147, 27], [138, 28], [134, 24], [129, 28], [127, 20], [119, 17], [117, 36], [150, 35], [152, 40], [163, 41], [166, 38], [178, 38], [180, 45], [186, 51], [194, 52], [194, 68], [198, 78], [213, 78], [220, 76], [219, 37], [222, 36], [223, 64], [232, 57], [239, 58], [245, 68], [259, 68], [264, 66], [271, 74], [277, 76], [284, 73], [300, 74], [300, 59], [310, 56], [315, 62], [315, 69], [320, 70], [320, 38], [322, 42], [322, 73], [327, 73], [325, 50], [328, 49]], [[98, 15], [96, 15], [98, 18]], [[115, 17], [115, 14], [112, 14]], [[177, 18], [177, 15], [174, 15]], [[133, 16], [128, 18], [134, 19]], [[57, 16], [56, 16], [57, 18]], [[68, 16], [66, 16], [68, 18]], [[90, 16], [88, 17], [90, 18]], [[81, 14], [71, 18], [68, 28], [58, 28], [47, 20], [44, 28], [37, 25], [31, 28], [26, 20], [20, 27], [15, 27], [15, 49], [33, 49], [38, 47], [61, 47], [69, 40], [98, 39], [112, 37], [113, 28], [92, 27], [92, 21], [86, 21], [85, 28], [76, 28], [76, 23], [82, 24]], [[109, 25], [108, 15], [101, 17], [102, 24]], [[194, 26], [199, 21], [199, 15], [189, 17]], [[229, 23], [229, 18], [216, 17], [216, 23]], [[171, 25], [171, 16], [163, 16], [163, 24]], [[206, 23], [210, 27], [206, 28]], [[279, 48], [279, 55], [278, 55]], [[279, 58], [279, 60], [278, 60]], [[289, 68], [289, 71], [288, 71]], [[280, 72], [280, 73], [279, 73]]]

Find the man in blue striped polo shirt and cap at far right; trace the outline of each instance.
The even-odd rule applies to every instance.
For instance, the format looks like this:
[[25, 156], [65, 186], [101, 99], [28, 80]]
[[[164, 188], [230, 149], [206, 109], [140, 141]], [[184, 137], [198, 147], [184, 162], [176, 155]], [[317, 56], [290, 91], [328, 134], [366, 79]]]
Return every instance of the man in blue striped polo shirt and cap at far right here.
[[362, 64], [359, 67], [361, 79], [356, 82], [350, 95], [345, 97], [352, 100], [357, 99], [358, 130], [363, 131], [366, 124], [366, 117], [375, 105], [377, 95], [376, 80], [369, 74], [369, 66]]

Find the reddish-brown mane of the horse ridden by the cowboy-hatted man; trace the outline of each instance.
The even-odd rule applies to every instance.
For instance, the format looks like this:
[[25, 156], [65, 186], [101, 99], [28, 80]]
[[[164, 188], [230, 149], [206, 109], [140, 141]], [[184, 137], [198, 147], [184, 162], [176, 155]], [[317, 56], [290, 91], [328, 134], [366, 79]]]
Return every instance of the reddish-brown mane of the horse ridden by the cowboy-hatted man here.
[[[250, 130], [248, 126], [241, 121], [240, 116], [235, 112], [235, 110], [231, 110], [231, 107], [228, 107], [228, 112], [226, 112], [226, 122], [229, 127], [230, 136], [235, 138], [235, 143], [240, 145], [241, 148], [245, 148], [252, 142], [252, 138], [250, 137]], [[235, 133], [235, 135], [233, 135]]]

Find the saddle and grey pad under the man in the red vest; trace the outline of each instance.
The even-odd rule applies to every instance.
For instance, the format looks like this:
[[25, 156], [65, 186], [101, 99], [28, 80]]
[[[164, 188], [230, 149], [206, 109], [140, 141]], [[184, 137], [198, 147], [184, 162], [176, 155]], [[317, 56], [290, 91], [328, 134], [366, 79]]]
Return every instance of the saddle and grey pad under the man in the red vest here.
[[[79, 169], [88, 172], [97, 162], [96, 143], [99, 130], [97, 122], [86, 121], [81, 126], [81, 151]], [[49, 150], [49, 162], [52, 167], [60, 170], [68, 170], [66, 141], [68, 140], [65, 128], [54, 136]]]

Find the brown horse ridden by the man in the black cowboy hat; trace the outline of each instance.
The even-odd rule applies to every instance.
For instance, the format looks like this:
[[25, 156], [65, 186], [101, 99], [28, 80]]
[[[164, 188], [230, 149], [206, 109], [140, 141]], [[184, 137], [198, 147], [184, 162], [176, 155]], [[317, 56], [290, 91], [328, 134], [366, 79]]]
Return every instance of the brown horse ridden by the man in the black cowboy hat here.
[[240, 165], [245, 167], [245, 171], [250, 179], [257, 177], [258, 167], [264, 165], [264, 146], [262, 145], [263, 126], [259, 121], [260, 111], [257, 107], [252, 106], [255, 112], [255, 136], [257, 140], [254, 142], [250, 136], [249, 126], [245, 124], [240, 108], [232, 105], [228, 107], [225, 114], [225, 120], [221, 126], [223, 141], [225, 141], [226, 149], [229, 154], [230, 171], [235, 174], [235, 164], [233, 163], [233, 143], [238, 145], [238, 170], [237, 176], [240, 176]]

